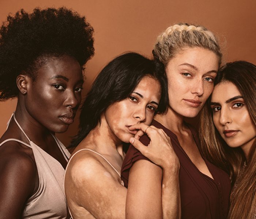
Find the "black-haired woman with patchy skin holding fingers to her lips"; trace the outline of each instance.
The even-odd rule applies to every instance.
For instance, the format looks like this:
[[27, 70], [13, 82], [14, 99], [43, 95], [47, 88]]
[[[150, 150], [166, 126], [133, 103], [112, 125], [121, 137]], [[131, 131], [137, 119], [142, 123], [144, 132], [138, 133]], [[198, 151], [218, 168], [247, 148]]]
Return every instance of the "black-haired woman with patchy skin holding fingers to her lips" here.
[[[71, 145], [77, 147], [65, 173], [74, 219], [125, 218], [127, 189], [120, 178], [123, 144], [137, 132], [130, 126], [149, 125], [155, 114], [166, 110], [167, 81], [161, 67], [140, 54], [127, 53], [109, 62], [95, 79], [83, 103], [80, 129]], [[151, 134], [153, 145], [162, 145], [172, 157], [165, 133], [155, 129]], [[161, 151], [151, 150], [148, 156], [166, 170], [163, 181], [168, 181], [170, 167]]]

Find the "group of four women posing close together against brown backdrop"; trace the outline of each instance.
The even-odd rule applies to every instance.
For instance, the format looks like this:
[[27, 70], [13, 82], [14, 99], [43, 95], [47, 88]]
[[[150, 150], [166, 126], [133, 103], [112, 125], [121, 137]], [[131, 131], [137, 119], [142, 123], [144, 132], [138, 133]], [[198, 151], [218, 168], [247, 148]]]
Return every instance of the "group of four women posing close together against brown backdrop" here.
[[[68, 166], [54, 132], [74, 121], [92, 27], [49, 8], [9, 16], [0, 33], [0, 98], [18, 97], [0, 139], [2, 218], [68, 218], [64, 193], [74, 219], [255, 217], [255, 65], [219, 71], [211, 31], [175, 24], [154, 60], [109, 62], [84, 100]], [[200, 141], [184, 118], [202, 108]]]

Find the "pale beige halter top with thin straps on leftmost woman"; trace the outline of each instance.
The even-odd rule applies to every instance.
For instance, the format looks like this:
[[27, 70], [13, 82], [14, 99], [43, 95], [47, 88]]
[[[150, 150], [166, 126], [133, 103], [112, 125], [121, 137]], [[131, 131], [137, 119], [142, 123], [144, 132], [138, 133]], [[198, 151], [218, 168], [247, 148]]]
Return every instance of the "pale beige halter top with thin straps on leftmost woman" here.
[[[57, 161], [51, 155], [46, 153], [35, 143], [30, 141], [29, 137], [27, 137], [26, 133], [23, 131], [23, 129], [17, 122], [15, 115], [12, 115], [20, 130], [28, 139], [29, 144], [15, 138], [9, 138], [1, 142], [0, 146], [2, 146], [5, 142], [8, 141], [16, 141], [22, 143], [23, 145], [26, 145], [27, 147], [30, 147], [33, 150], [39, 178], [38, 189], [27, 200], [27, 203], [25, 204], [25, 208], [22, 214], [22, 218], [64, 219], [69, 217], [67, 202], [64, 195], [63, 181], [65, 170], [63, 169], [63, 166], [59, 163], [59, 161]], [[7, 123], [7, 128], [9, 122]], [[56, 141], [57, 145], [59, 146], [59, 149], [63, 154], [63, 157], [66, 161], [68, 161], [70, 153], [54, 135], [52, 136]]]

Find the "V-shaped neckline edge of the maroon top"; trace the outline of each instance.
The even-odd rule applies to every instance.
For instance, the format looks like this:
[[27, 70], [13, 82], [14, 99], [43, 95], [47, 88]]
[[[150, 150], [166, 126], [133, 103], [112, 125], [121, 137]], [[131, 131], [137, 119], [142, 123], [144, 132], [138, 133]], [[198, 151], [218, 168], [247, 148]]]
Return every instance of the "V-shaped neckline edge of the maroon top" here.
[[[187, 159], [188, 159], [189, 162], [193, 165], [193, 167], [197, 170], [197, 172], [199, 172], [202, 176], [207, 177], [208, 179], [212, 180], [212, 181], [215, 183], [215, 176], [214, 176], [214, 174], [212, 174], [211, 168], [210, 168], [209, 165], [208, 165], [208, 161], [207, 161], [206, 159], [204, 159], [204, 157], [203, 157], [203, 155], [201, 154], [200, 150], [199, 150], [199, 153], [200, 153], [202, 159], [204, 160], [204, 163], [206, 164], [207, 169], [209, 170], [209, 172], [211, 173], [211, 175], [212, 175], [213, 178], [211, 178], [210, 176], [207, 176], [206, 174], [202, 173], [202, 172], [196, 167], [196, 165], [195, 165], [195, 164], [191, 161], [191, 159], [189, 158], [188, 154], [187, 154], [187, 153], [185, 152], [185, 150], [181, 147], [180, 142], [178, 141], [178, 137], [177, 137], [176, 134], [174, 134], [169, 128], [166, 128], [163, 124], [159, 123], [157, 120], [153, 120], [153, 121], [154, 121], [154, 122], [157, 122], [160, 126], [163, 127], [163, 130], [164, 130], [164, 131], [166, 130], [167, 132], [169, 132], [169, 133], [172, 135], [172, 137], [175, 138], [175, 140], [177, 141], [178, 147], [180, 148], [180, 150], [182, 151], [182, 153], [187, 157]], [[196, 143], [196, 147], [199, 149], [199, 145], [197, 144], [197, 141], [196, 141], [196, 138], [195, 138], [196, 132], [191, 128], [191, 125], [190, 125], [190, 124], [188, 124], [188, 123], [185, 123], [185, 124], [187, 125], [187, 127], [188, 127], [189, 130], [191, 131], [191, 134], [192, 134], [192, 136], [193, 136], [193, 140], [194, 140], [194, 142]], [[166, 133], [166, 134], [167, 134], [167, 133]]]

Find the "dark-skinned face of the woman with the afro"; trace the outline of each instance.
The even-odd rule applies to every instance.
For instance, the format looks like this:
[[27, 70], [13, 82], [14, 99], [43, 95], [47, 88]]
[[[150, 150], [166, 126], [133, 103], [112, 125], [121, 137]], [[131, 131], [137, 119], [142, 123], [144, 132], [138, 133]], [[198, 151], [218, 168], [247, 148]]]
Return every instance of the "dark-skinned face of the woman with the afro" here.
[[27, 111], [39, 126], [52, 132], [64, 132], [74, 122], [82, 85], [78, 61], [69, 56], [49, 58], [39, 68], [36, 80], [28, 83]]

